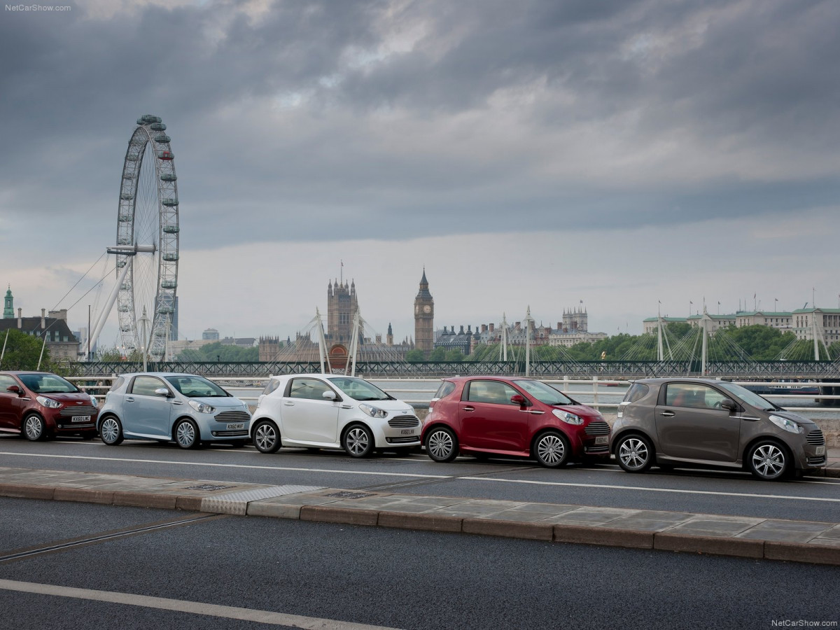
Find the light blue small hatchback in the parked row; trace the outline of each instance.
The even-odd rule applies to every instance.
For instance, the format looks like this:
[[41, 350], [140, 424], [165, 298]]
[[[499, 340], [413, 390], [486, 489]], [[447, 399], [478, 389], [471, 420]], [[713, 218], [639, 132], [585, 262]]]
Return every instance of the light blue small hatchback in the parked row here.
[[251, 414], [239, 398], [192, 374], [140, 372], [114, 381], [99, 412], [105, 444], [123, 439], [175, 442], [197, 449], [202, 442], [244, 446]]

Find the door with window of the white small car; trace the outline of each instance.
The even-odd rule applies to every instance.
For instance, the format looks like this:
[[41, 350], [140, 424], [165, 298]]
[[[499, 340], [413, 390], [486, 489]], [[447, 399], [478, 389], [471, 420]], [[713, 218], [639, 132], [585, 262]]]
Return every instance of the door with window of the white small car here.
[[308, 444], [335, 444], [339, 404], [324, 399], [324, 391], [335, 394], [319, 379], [299, 377], [289, 381], [281, 401], [283, 438]]

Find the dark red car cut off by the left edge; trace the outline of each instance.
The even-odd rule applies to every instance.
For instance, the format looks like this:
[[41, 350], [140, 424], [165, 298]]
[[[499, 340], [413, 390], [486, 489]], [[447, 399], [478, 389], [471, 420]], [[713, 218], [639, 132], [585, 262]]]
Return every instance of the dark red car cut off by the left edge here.
[[35, 441], [97, 435], [97, 400], [48, 372], [0, 372], [0, 431]]

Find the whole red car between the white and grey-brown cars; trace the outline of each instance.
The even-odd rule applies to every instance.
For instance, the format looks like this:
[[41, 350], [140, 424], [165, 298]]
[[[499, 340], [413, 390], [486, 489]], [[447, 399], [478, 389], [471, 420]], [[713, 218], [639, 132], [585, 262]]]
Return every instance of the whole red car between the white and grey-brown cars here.
[[601, 413], [541, 381], [499, 376], [444, 379], [423, 423], [434, 461], [459, 453], [533, 457], [557, 468], [571, 459], [609, 459], [610, 425]]

